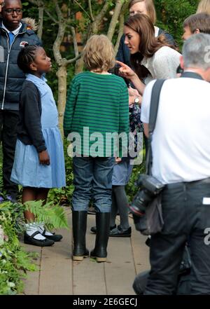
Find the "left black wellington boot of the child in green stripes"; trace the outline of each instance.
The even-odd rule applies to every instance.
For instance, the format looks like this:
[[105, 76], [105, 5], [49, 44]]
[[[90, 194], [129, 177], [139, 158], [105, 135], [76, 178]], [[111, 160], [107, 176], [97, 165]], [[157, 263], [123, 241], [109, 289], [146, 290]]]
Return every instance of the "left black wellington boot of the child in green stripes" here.
[[85, 234], [87, 229], [87, 212], [72, 211], [73, 226], [73, 261], [82, 261], [89, 256], [85, 245]]

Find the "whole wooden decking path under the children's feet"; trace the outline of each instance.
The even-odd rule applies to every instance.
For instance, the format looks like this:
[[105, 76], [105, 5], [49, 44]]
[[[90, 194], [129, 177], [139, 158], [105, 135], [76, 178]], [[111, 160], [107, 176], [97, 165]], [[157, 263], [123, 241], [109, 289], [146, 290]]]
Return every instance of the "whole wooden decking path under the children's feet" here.
[[[70, 230], [62, 233], [61, 242], [52, 247], [24, 245], [29, 252], [38, 252], [39, 271], [29, 273], [25, 280], [26, 295], [134, 295], [132, 283], [137, 273], [149, 269], [146, 238], [134, 228], [132, 238], [109, 238], [108, 261], [71, 260], [71, 211], [67, 211]], [[87, 248], [94, 247], [95, 235], [90, 233], [95, 216], [88, 215]]]

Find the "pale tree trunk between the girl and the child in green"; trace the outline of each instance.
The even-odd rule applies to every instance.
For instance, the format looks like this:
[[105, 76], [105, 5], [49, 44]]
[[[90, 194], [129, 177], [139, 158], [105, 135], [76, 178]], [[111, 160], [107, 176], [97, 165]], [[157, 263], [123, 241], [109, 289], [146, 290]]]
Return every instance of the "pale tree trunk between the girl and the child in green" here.
[[66, 83], [67, 83], [67, 71], [66, 65], [62, 65], [57, 70], [57, 78], [58, 78], [58, 99], [57, 99], [57, 109], [59, 115], [59, 129], [64, 136], [63, 132], [63, 121], [64, 121], [64, 111], [66, 107]]

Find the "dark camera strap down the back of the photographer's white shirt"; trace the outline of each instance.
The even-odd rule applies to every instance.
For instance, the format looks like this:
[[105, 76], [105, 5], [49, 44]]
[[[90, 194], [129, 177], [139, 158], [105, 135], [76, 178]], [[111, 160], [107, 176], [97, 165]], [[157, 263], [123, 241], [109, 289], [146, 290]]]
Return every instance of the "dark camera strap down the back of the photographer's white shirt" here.
[[160, 100], [160, 92], [165, 79], [158, 79], [153, 85], [151, 94], [151, 107], [150, 107], [150, 119], [149, 119], [149, 137], [148, 137], [148, 151], [146, 156], [146, 174], [152, 174], [153, 165], [153, 152], [152, 152], [152, 139], [153, 131], [155, 130], [155, 123], [158, 115], [158, 105]]

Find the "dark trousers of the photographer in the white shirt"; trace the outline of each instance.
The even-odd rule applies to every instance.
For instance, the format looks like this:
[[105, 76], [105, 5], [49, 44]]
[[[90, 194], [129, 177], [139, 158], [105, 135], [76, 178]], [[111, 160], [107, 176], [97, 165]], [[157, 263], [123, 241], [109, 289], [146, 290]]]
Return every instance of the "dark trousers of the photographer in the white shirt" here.
[[169, 184], [164, 189], [165, 226], [151, 238], [151, 272], [144, 294], [172, 294], [188, 242], [192, 259], [190, 294], [210, 295], [210, 238], [206, 230], [210, 228], [210, 202], [204, 198], [210, 198], [210, 179]]

